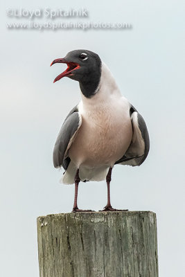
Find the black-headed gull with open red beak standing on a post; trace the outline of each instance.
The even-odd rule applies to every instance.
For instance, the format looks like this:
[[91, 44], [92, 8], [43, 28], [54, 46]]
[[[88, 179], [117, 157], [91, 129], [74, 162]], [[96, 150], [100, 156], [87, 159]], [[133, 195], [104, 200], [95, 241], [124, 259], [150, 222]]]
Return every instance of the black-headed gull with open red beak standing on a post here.
[[81, 100], [62, 124], [54, 150], [53, 165], [64, 168], [61, 182], [75, 184], [73, 213], [91, 212], [78, 208], [80, 181], [107, 182], [110, 202], [112, 168], [116, 164], [140, 166], [148, 156], [150, 139], [146, 123], [118, 89], [116, 80], [99, 55], [85, 49], [73, 50], [51, 65], [67, 64], [53, 82], [68, 77], [80, 85]]

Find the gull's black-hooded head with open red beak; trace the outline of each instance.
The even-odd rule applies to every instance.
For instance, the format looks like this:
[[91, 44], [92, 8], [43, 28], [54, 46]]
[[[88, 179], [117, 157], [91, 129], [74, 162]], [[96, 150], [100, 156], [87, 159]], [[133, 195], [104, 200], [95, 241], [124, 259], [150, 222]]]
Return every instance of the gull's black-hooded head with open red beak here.
[[96, 94], [100, 82], [101, 65], [100, 57], [89, 50], [73, 50], [64, 58], [53, 60], [52, 64], [67, 64], [67, 69], [58, 75], [54, 82], [63, 77], [69, 77], [80, 84], [83, 95], [91, 98]]

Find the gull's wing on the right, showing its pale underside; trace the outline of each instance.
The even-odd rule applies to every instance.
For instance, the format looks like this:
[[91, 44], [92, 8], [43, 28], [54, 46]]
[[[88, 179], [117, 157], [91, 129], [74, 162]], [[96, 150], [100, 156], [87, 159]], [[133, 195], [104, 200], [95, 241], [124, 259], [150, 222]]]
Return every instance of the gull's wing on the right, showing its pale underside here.
[[143, 117], [132, 105], [130, 107], [130, 119], [133, 129], [132, 141], [124, 156], [116, 161], [116, 163], [128, 166], [140, 166], [148, 156], [150, 149], [148, 129]]

